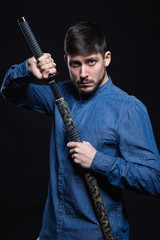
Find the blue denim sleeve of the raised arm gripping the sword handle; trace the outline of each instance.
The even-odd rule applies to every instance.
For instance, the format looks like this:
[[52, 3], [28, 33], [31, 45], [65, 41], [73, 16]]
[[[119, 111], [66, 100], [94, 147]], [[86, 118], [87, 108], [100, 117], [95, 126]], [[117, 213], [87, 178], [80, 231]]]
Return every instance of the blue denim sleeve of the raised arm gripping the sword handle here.
[[7, 71], [1, 93], [8, 101], [20, 107], [52, 115], [54, 96], [49, 86], [33, 84], [33, 75], [27, 68], [27, 60], [15, 64]]

